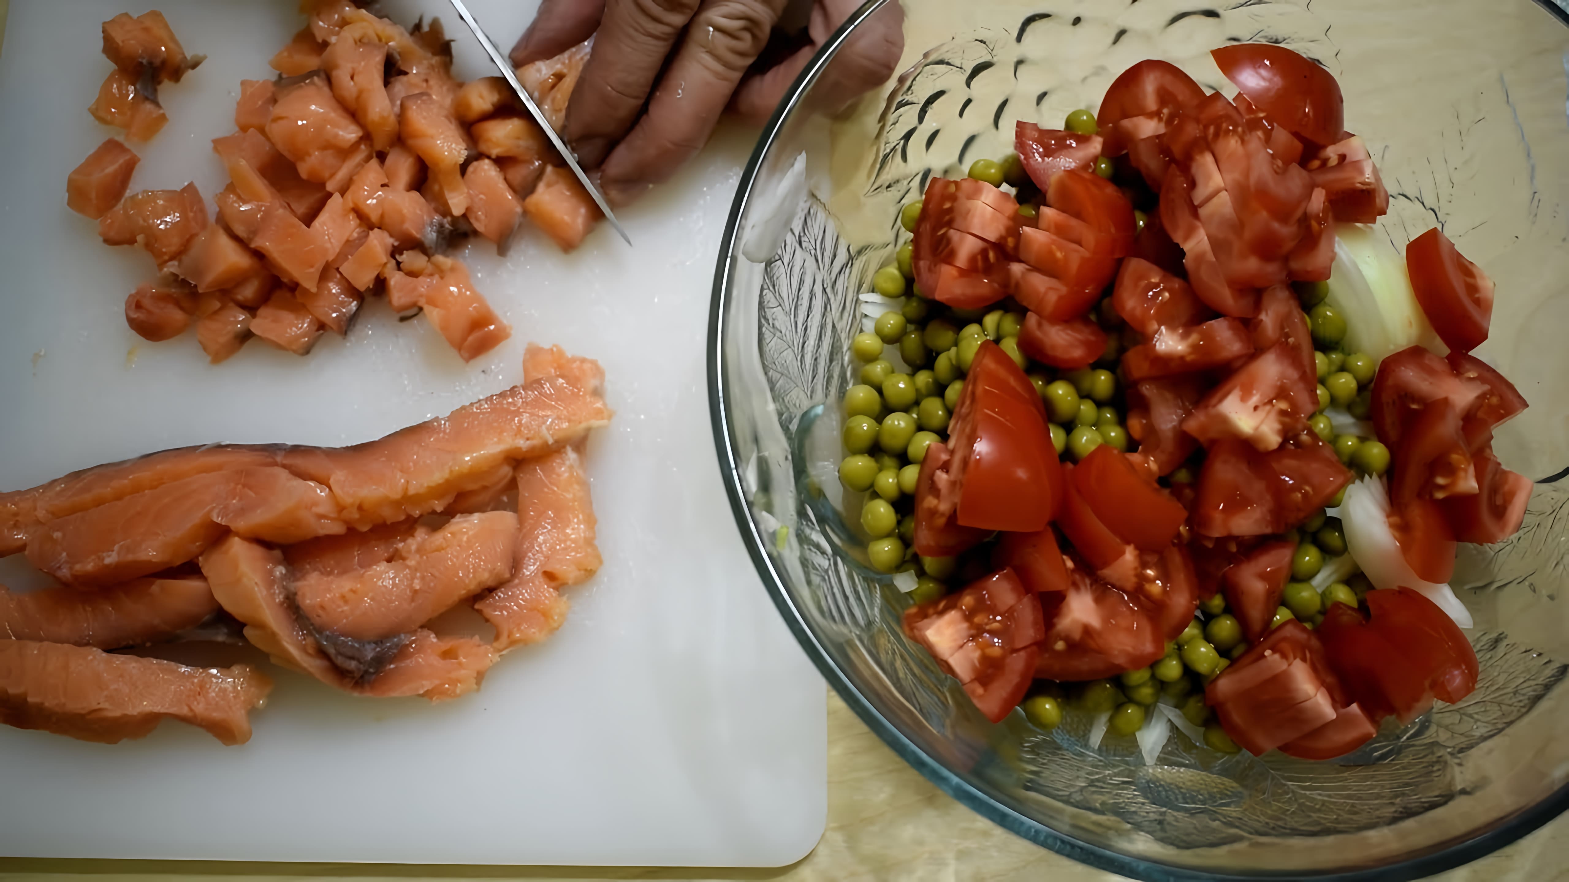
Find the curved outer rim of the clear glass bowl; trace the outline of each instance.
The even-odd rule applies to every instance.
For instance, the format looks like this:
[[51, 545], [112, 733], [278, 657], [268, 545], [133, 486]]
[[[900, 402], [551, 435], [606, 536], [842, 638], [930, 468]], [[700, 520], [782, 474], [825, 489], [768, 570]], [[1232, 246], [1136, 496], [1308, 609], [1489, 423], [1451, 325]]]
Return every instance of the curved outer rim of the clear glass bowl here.
[[[736, 455], [734, 446], [731, 444], [731, 419], [728, 399], [725, 394], [725, 309], [726, 301], [731, 298], [730, 279], [731, 279], [731, 262], [739, 251], [737, 235], [741, 232], [741, 218], [747, 206], [753, 201], [753, 187], [758, 184], [758, 174], [763, 168], [764, 160], [769, 157], [772, 148], [780, 140], [780, 133], [792, 115], [802, 108], [802, 99], [817, 82], [822, 71], [833, 61], [835, 55], [844, 46], [850, 31], [855, 30], [861, 22], [872, 16], [890, 0], [866, 0], [860, 9], [852, 14], [844, 25], [841, 25], [816, 56], [806, 64], [800, 77], [791, 86], [784, 100], [775, 108], [774, 116], [769, 119], [767, 126], [763, 129], [758, 138], [756, 148], [752, 151], [752, 157], [747, 160], [747, 166], [741, 174], [741, 182], [736, 188], [736, 198], [730, 209], [730, 217], [725, 221], [725, 234], [720, 239], [719, 261], [714, 270], [714, 292], [709, 304], [708, 317], [708, 402], [711, 422], [714, 430], [714, 447], [719, 454], [720, 477], [725, 482], [725, 494], [730, 499], [731, 513], [736, 518], [736, 527], [741, 530], [741, 538], [747, 546], [747, 554], [752, 556], [752, 562], [761, 576], [769, 596], [774, 598], [774, 604], [778, 607], [780, 615], [784, 617], [784, 623], [789, 626], [795, 640], [802, 645], [806, 654], [811, 658], [813, 664], [822, 676], [833, 686], [833, 691], [839, 694], [846, 705], [855, 713], [861, 722], [866, 723], [877, 736], [899, 755], [901, 760], [908, 763], [915, 771], [921, 772], [929, 782], [943, 789], [943, 793], [952, 796], [965, 807], [971, 808], [982, 818], [1001, 826], [1003, 829], [1017, 833], [1036, 844], [1045, 846], [1058, 854], [1070, 857], [1073, 860], [1087, 863], [1098, 869], [1106, 869], [1111, 873], [1120, 873], [1125, 876], [1133, 876], [1139, 879], [1152, 880], [1188, 880], [1188, 879], [1252, 879], [1257, 876], [1238, 876], [1232, 873], [1203, 873], [1188, 868], [1177, 868], [1163, 863], [1152, 863], [1149, 860], [1141, 860], [1128, 857], [1109, 849], [1092, 846], [1059, 833], [1050, 827], [1045, 827], [1006, 805], [1001, 805], [981, 789], [974, 788], [968, 782], [959, 778], [949, 772], [941, 763], [929, 756], [924, 750], [915, 745], [897, 727], [890, 723], [855, 687], [846, 672], [835, 664], [828, 651], [821, 645], [817, 636], [806, 626], [805, 617], [795, 607], [789, 593], [784, 590], [783, 576], [774, 565], [774, 560], [766, 551], [766, 540], [758, 534], [756, 524], [752, 519], [745, 491], [742, 485], [742, 466], [739, 457]], [[1563, 16], [1560, 16], [1563, 17]], [[1392, 863], [1379, 868], [1357, 869], [1349, 873], [1329, 873], [1315, 874], [1313, 879], [1332, 879], [1332, 880], [1363, 880], [1363, 879], [1418, 879], [1442, 873], [1470, 863], [1480, 857], [1484, 857], [1522, 836], [1531, 833], [1538, 827], [1547, 824], [1558, 815], [1569, 810], [1569, 786], [1560, 788], [1552, 793], [1547, 799], [1536, 802], [1534, 805], [1517, 811], [1516, 815], [1495, 822], [1491, 829], [1481, 830], [1472, 838], [1448, 846], [1440, 851], [1423, 854], [1403, 860], [1400, 863]]]

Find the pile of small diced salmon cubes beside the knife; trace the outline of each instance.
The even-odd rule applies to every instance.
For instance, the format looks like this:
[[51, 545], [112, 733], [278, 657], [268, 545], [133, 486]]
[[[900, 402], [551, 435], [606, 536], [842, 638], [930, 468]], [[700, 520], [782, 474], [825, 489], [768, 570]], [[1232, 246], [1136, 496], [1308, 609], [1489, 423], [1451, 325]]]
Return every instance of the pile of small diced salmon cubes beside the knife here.
[[[441, 22], [405, 30], [348, 0], [304, 0], [308, 25], [242, 80], [235, 132], [212, 141], [229, 182], [127, 196], [137, 154], [107, 140], [67, 179], [66, 204], [107, 245], [140, 245], [158, 276], [126, 298], [147, 341], [195, 328], [209, 361], [248, 341], [306, 355], [345, 336], [367, 298], [422, 314], [464, 359], [511, 336], [447, 254], [468, 235], [505, 250], [526, 226], [571, 251], [599, 210], [501, 77], [461, 83]], [[157, 86], [199, 63], [157, 13], [104, 22], [115, 64], [91, 111], [146, 141], [165, 124]], [[587, 46], [518, 71], [554, 121]]]

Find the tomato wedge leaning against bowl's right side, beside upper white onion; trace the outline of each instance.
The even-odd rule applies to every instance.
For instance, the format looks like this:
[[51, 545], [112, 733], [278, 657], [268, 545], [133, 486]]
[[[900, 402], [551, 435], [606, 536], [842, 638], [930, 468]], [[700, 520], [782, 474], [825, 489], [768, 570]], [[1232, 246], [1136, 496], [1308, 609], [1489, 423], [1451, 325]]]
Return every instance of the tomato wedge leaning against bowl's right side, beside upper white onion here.
[[1487, 339], [1492, 322], [1492, 279], [1432, 228], [1406, 246], [1411, 290], [1432, 330], [1451, 352], [1470, 352]]

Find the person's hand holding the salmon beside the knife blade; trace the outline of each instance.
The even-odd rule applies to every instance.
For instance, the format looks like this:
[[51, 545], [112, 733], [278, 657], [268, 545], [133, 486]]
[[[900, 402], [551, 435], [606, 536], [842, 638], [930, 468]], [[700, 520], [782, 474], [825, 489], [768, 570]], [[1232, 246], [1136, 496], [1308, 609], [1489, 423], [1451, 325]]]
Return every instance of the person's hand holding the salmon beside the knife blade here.
[[[730, 108], [764, 122], [813, 53], [861, 0], [813, 0], [806, 42], [753, 71], [788, 0], [543, 0], [511, 50], [513, 64], [551, 58], [595, 35], [562, 137], [599, 166], [624, 206], [692, 159]], [[897, 3], [855, 31], [819, 88], [846, 100], [893, 75], [904, 52]]]

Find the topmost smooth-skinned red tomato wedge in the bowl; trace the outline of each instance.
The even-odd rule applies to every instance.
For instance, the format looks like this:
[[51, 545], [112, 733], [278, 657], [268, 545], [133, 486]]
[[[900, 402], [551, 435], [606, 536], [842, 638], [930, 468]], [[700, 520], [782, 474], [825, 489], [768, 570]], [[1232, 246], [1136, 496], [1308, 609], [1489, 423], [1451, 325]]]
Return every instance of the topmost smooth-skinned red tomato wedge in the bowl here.
[[1238, 42], [1210, 53], [1227, 80], [1285, 130], [1332, 144], [1345, 129], [1335, 77], [1302, 55], [1266, 42]]

